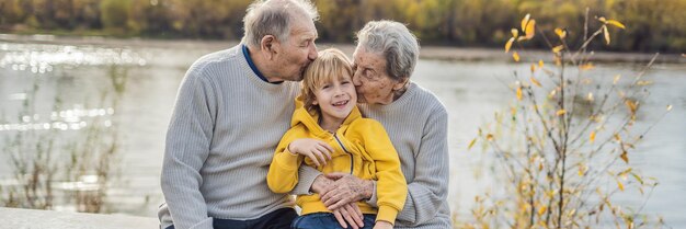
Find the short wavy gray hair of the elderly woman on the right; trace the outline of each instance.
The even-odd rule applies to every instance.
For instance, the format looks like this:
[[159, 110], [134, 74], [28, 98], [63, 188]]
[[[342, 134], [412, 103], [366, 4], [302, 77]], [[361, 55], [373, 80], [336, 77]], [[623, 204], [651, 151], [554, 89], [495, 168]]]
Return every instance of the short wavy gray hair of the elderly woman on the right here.
[[368, 22], [357, 32], [357, 44], [366, 51], [386, 57], [386, 70], [396, 80], [410, 78], [420, 56], [414, 34], [393, 21]]

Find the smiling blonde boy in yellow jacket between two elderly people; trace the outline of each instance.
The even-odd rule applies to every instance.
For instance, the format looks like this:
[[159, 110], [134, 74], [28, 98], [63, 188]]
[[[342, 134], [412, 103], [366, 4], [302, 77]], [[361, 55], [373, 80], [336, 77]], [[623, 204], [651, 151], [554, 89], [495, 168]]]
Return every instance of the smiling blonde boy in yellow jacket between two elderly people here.
[[[408, 195], [400, 160], [380, 123], [363, 118], [352, 82], [351, 61], [338, 49], [325, 49], [305, 71], [296, 99], [290, 129], [276, 147], [267, 174], [275, 193], [290, 192], [298, 182], [298, 167], [322, 173], [345, 172], [377, 181], [378, 209], [365, 202], [357, 206], [364, 228], [392, 228]], [[318, 194], [299, 195], [302, 208], [291, 228], [340, 228]]]

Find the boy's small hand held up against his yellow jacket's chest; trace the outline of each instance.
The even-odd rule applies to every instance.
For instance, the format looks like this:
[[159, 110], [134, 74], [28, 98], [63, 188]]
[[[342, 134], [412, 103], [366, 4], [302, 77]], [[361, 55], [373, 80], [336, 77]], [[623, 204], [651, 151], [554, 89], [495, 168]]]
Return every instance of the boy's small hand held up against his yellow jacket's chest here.
[[327, 164], [327, 160], [331, 160], [333, 148], [321, 140], [301, 138], [290, 142], [288, 151], [308, 157], [317, 167], [320, 167]]

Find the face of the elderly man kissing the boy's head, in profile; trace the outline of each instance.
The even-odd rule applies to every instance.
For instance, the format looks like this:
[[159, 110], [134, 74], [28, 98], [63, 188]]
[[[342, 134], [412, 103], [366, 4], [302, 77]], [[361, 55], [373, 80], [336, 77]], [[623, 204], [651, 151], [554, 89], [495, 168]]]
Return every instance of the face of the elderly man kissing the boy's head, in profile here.
[[281, 43], [282, 53], [276, 57], [276, 68], [282, 80], [300, 81], [305, 68], [317, 58], [317, 28], [312, 20], [296, 16], [290, 26], [290, 37]]

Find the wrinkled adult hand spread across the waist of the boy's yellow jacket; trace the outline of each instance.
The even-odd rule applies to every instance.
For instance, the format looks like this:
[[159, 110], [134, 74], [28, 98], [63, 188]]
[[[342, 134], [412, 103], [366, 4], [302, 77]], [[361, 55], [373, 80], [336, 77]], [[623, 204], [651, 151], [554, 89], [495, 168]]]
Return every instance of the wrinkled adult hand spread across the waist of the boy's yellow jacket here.
[[325, 174], [325, 176], [335, 181], [319, 192], [321, 202], [330, 210], [369, 198], [374, 192], [374, 183], [371, 181], [361, 180], [354, 175], [338, 172]]

